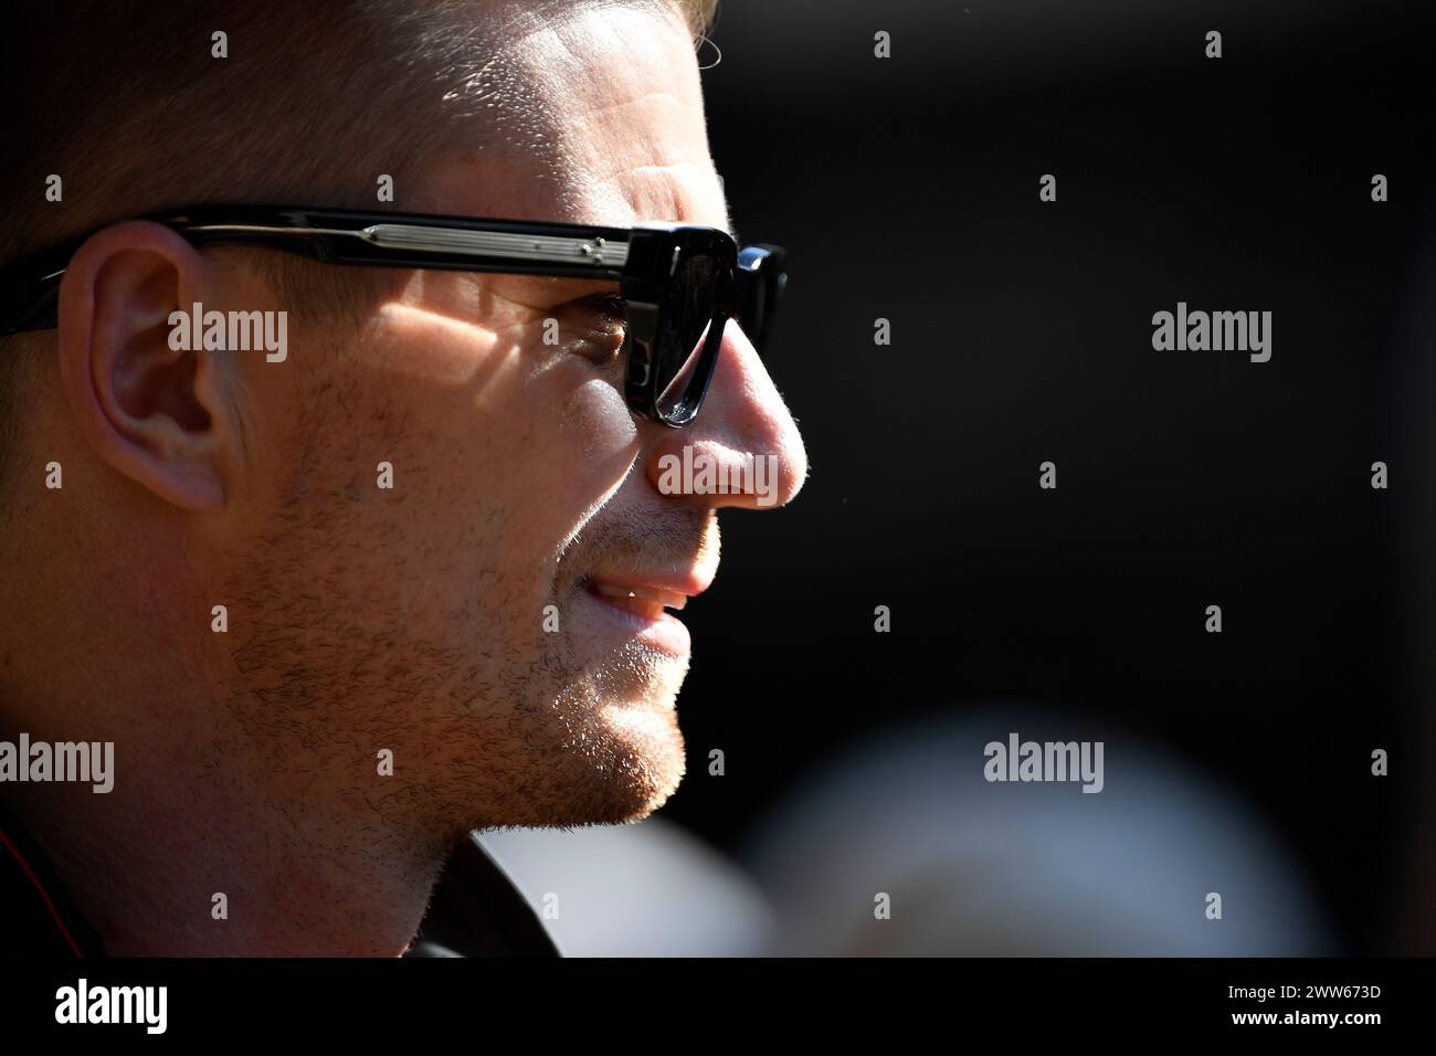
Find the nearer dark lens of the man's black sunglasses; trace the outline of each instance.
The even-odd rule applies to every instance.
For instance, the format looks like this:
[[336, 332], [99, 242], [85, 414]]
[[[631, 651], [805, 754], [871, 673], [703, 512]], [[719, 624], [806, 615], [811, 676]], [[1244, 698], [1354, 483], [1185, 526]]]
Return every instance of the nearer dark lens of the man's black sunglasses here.
[[694, 254], [678, 266], [673, 293], [659, 323], [658, 414], [663, 421], [691, 418], [708, 386], [712, 356], [705, 358], [718, 313], [722, 264], [711, 254]]

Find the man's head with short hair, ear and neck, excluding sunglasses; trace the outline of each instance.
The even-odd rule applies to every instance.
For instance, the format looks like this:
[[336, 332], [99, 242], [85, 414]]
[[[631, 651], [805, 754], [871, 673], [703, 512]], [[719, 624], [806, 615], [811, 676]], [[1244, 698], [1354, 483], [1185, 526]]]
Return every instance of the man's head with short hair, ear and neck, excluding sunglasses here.
[[[269, 4], [225, 11], [221, 59], [194, 46], [205, 14], [96, 7], [76, 45], [32, 11], [22, 76], [109, 36], [135, 56], [17, 118], [27, 164], [82, 190], [17, 210], [6, 259], [90, 234], [57, 326], [3, 349], [32, 374], [0, 374], [24, 422], [0, 448], [0, 608], [26, 613], [0, 720], [113, 743], [115, 776], [6, 806], [111, 951], [396, 953], [471, 829], [616, 823], [673, 792], [689, 642], [665, 611], [712, 580], [717, 509], [781, 506], [807, 461], [735, 322], [669, 428], [628, 402], [613, 280], [123, 220], [373, 211], [392, 172], [401, 213], [728, 227], [676, 0], [336, 0], [292, 34]], [[283, 355], [178, 348], [195, 303], [284, 312]], [[773, 474], [673, 493], [673, 460]], [[63, 488], [36, 486], [46, 464]], [[246, 907], [218, 930], [215, 892]]]

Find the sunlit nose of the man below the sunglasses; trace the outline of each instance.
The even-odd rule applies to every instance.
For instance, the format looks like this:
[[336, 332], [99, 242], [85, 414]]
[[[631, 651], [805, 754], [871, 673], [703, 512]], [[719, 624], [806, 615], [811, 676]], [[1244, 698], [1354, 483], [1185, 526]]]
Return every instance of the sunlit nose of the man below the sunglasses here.
[[682, 430], [653, 424], [646, 473], [659, 494], [709, 509], [783, 506], [807, 478], [797, 422], [738, 323], [724, 329], [712, 384]]

